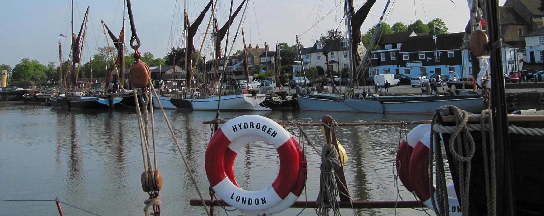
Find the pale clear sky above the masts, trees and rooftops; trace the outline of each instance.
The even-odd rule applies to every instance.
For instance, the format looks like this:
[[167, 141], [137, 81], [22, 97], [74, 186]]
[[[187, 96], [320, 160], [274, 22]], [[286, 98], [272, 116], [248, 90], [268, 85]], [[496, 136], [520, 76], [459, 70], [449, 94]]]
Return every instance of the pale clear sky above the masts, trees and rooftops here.
[[[207, 0], [186, 0], [189, 20], [196, 16], [207, 4]], [[214, 0], [215, 1], [215, 0]], [[300, 35], [300, 42], [305, 47], [313, 46], [320, 34], [327, 29], [338, 28], [345, 34], [344, 1], [343, 0], [249, 0], [244, 20], [246, 44], [264, 47], [267, 42], [271, 50], [276, 41], [294, 45], [295, 35]], [[499, 0], [504, 4], [505, 0]], [[20, 59], [37, 59], [42, 64], [55, 61], [58, 65], [59, 34], [63, 45], [63, 59], [66, 60], [70, 50], [70, 2], [4, 0], [0, 3], [0, 64], [15, 66]], [[104, 20], [115, 34], [122, 27], [122, 0], [75, 0], [74, 31], [79, 30], [86, 7], [90, 7], [87, 39], [82, 62], [90, 60], [97, 47], [107, 46], [101, 26]], [[354, 0], [356, 8], [365, 1]], [[363, 33], [379, 21], [386, 0], [378, 0], [362, 25]], [[392, 0], [387, 10], [385, 22], [393, 24], [404, 22], [410, 24], [416, 20], [427, 23], [434, 18], [442, 18], [450, 33], [463, 31], [469, 18], [469, 10], [465, 0]], [[242, 0], [234, 0], [234, 8]], [[171, 47], [184, 47], [183, 38], [183, 0], [132, 1], [136, 30], [141, 40], [140, 52], [151, 52], [155, 58], [162, 58]], [[219, 26], [227, 21], [230, 1], [219, 0], [215, 17]], [[207, 13], [195, 36], [195, 48], [199, 49], [206, 32], [209, 16]], [[231, 27], [230, 41], [234, 37], [239, 23], [238, 15]], [[318, 22], [319, 21], [319, 22]], [[131, 30], [126, 15], [127, 47]], [[240, 33], [241, 34], [241, 33]], [[208, 34], [203, 55], [211, 55], [213, 50]], [[225, 49], [223, 40], [223, 49]], [[111, 43], [111, 41], [110, 41]], [[113, 46], [113, 45], [112, 45]], [[228, 45], [231, 46], [231, 45]], [[237, 40], [233, 52], [242, 49], [241, 40]], [[130, 47], [128, 47], [131, 50]], [[131, 50], [132, 52], [132, 50]], [[209, 57], [208, 57], [209, 59]]]

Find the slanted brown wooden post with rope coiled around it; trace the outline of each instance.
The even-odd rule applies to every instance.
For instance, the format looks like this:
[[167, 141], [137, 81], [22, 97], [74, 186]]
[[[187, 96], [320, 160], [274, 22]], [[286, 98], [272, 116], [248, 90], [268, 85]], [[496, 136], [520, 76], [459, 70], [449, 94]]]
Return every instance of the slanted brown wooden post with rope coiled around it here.
[[[331, 116], [324, 116], [322, 119], [322, 122], [326, 125], [333, 126], [332, 123], [335, 120], [332, 119]], [[323, 124], [322, 124], [323, 125]], [[336, 151], [338, 155], [342, 155], [340, 153], [340, 150], [338, 150], [338, 139], [336, 139], [336, 131], [335, 129], [329, 129], [325, 128], [325, 126], [322, 126], [323, 128], [323, 135], [325, 135], [325, 143], [331, 141], [331, 144], [335, 145]], [[335, 179], [336, 179], [336, 186], [338, 187], [338, 195], [340, 196], [340, 201], [349, 202], [349, 190], [348, 190], [348, 183], [345, 181], [345, 174], [344, 174], [344, 165], [342, 164], [341, 167], [335, 168]]]

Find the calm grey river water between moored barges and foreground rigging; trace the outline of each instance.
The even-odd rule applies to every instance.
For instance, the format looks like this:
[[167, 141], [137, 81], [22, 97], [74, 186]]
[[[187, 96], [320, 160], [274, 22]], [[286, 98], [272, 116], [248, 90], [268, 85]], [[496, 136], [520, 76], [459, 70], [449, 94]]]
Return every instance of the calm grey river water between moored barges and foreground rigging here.
[[[162, 215], [204, 215], [189, 199], [199, 198], [183, 165], [162, 113], [155, 110], [158, 168], [163, 175]], [[394, 122], [430, 119], [429, 115], [373, 115], [367, 113], [270, 111], [221, 112], [221, 118], [246, 114], [295, 122], [320, 122], [331, 115], [338, 122]], [[206, 146], [211, 137], [209, 125], [215, 112], [166, 110], [189, 166], [205, 199], [209, 199], [204, 168]], [[409, 126], [409, 129], [413, 126]], [[298, 128], [286, 129], [299, 138]], [[320, 149], [320, 127], [305, 127]], [[338, 139], [347, 150], [344, 165], [348, 187], [354, 200], [397, 199], [393, 161], [399, 142], [399, 126], [341, 126]], [[299, 200], [316, 200], [319, 188], [320, 158], [307, 143], [306, 190]], [[251, 143], [240, 150], [234, 170], [240, 186], [258, 190], [270, 185], [279, 170], [279, 159], [269, 143]], [[147, 194], [141, 189], [144, 171], [137, 115], [133, 110], [58, 111], [32, 105], [0, 105], [0, 199], [52, 200], [76, 205], [100, 215], [143, 215]], [[398, 181], [400, 184], [400, 181]], [[412, 194], [399, 186], [405, 200]], [[400, 199], [399, 199], [400, 200]], [[3, 215], [55, 215], [54, 202], [0, 201]], [[63, 205], [65, 215], [90, 215]], [[296, 215], [290, 208], [276, 215]], [[217, 215], [227, 215], [215, 207]], [[393, 215], [395, 209], [358, 209], [359, 215]], [[430, 213], [430, 212], [429, 212]], [[305, 209], [301, 215], [315, 215]], [[353, 215], [343, 209], [343, 215]], [[410, 208], [397, 209], [398, 215], [425, 215]], [[430, 213], [432, 214], [432, 213]], [[228, 215], [245, 215], [240, 211]]]

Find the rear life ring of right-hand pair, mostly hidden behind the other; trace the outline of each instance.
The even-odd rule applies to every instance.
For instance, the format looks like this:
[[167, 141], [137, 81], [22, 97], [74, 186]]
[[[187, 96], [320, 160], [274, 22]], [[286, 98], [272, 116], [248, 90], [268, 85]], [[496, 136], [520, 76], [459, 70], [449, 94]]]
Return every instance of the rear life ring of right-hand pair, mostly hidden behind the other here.
[[421, 139], [430, 128], [430, 124], [417, 125], [406, 134], [406, 137], [400, 142], [399, 150], [397, 151], [397, 161], [395, 163], [397, 166], [397, 174], [400, 182], [403, 183], [404, 187], [409, 192], [413, 191], [409, 176], [410, 156], [412, 155], [413, 148], [416, 147], [417, 142], [419, 142], [419, 139]]

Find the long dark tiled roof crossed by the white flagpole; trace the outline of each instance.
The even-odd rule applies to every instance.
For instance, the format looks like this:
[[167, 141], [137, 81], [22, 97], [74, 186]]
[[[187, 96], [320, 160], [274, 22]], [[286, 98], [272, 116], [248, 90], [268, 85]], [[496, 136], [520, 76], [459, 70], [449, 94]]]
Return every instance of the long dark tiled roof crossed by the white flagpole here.
[[[436, 49], [460, 49], [463, 44], [464, 32], [442, 34], [436, 36]], [[400, 52], [435, 50], [435, 40], [432, 35], [408, 37], [400, 48]]]

